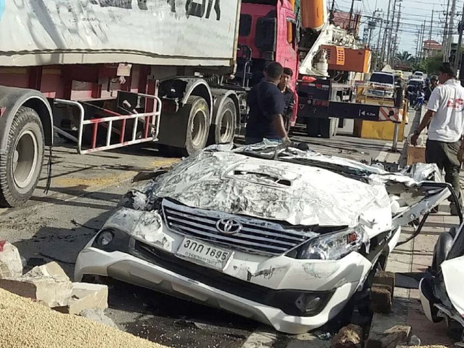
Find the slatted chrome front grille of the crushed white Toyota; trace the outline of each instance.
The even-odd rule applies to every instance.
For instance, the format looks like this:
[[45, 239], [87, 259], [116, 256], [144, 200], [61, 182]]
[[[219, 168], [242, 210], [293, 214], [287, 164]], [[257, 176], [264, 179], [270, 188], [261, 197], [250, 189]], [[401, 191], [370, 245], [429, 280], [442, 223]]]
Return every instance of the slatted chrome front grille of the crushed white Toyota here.
[[[314, 232], [285, 229], [280, 224], [266, 220], [190, 208], [166, 199], [163, 200], [162, 206], [166, 224], [170, 229], [232, 249], [281, 255], [316, 235]], [[221, 233], [216, 228], [220, 219], [234, 219], [242, 228], [233, 234]]]

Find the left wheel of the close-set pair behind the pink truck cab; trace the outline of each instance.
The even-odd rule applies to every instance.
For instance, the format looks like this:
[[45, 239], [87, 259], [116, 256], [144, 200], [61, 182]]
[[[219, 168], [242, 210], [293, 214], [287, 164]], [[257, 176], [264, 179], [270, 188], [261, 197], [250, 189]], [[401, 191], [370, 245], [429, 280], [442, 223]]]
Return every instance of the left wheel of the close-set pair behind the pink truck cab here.
[[205, 98], [191, 96], [188, 97], [187, 103], [179, 111], [183, 113], [187, 127], [185, 139], [185, 148], [181, 148], [182, 155], [192, 155], [195, 152], [205, 148], [209, 134], [209, 107]]

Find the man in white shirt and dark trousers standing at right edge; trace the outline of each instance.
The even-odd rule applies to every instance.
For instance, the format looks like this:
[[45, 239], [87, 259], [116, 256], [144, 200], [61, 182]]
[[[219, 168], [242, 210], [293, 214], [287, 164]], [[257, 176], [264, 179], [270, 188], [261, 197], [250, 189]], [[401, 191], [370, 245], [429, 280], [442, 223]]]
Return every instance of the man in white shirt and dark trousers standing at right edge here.
[[[436, 163], [440, 170], [445, 169], [445, 181], [450, 183], [459, 197], [459, 171], [461, 167], [458, 152], [464, 152], [461, 137], [464, 132], [464, 88], [456, 77], [456, 69], [449, 63], [440, 66], [438, 79], [441, 83], [430, 96], [427, 112], [414, 132], [411, 142], [417, 145], [420, 132], [428, 127], [428, 140], [425, 148], [427, 163]], [[459, 151], [460, 148], [463, 151]], [[451, 214], [457, 215], [460, 208], [451, 203]]]

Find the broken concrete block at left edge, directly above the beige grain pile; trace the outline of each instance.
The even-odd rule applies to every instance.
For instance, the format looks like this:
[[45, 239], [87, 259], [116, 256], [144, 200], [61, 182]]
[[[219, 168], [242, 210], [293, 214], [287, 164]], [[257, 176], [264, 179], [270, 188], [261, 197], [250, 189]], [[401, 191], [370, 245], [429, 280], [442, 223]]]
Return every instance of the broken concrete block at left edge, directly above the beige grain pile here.
[[64, 306], [71, 296], [72, 283], [60, 277], [17, 277], [0, 279], [0, 288], [19, 296], [46, 304], [48, 307]]

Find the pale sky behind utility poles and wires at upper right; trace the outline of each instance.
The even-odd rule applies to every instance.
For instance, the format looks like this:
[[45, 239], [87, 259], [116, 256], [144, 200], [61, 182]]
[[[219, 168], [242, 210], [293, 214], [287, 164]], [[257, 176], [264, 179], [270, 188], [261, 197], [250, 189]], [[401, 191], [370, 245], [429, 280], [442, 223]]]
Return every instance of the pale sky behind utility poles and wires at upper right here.
[[[332, 0], [328, 0], [329, 6], [332, 5]], [[451, 3], [450, 1], [450, 10], [451, 13]], [[393, 2], [391, 0], [391, 10], [390, 10], [390, 20], [392, 18]], [[445, 15], [448, 0], [397, 0], [396, 11], [398, 12], [401, 4], [401, 16], [400, 16], [400, 45], [399, 51], [408, 51], [415, 55], [416, 52], [416, 43], [417, 43], [417, 33], [420, 30], [421, 24], [425, 20], [425, 39], [429, 39], [431, 32], [432, 24], [432, 40], [438, 42], [443, 41], [443, 31], [445, 24]], [[464, 0], [456, 0], [456, 15], [455, 15], [455, 29], [454, 33], [458, 32], [458, 21], [461, 19], [463, 12]], [[335, 0], [335, 9], [349, 12], [351, 6], [351, 0]], [[374, 15], [375, 10], [381, 10], [382, 12], [377, 12], [376, 15], [382, 17], [384, 20], [387, 19], [387, 9], [388, 9], [388, 0], [355, 0], [354, 9], [361, 12], [361, 23], [364, 23], [361, 26], [360, 37], [362, 38], [362, 33], [364, 26], [366, 26], [367, 20], [369, 17]], [[433, 22], [432, 22], [432, 10], [433, 10]], [[450, 16], [448, 16], [449, 21]], [[397, 17], [395, 16], [395, 28], [396, 28]], [[380, 25], [380, 23], [379, 23]], [[385, 24], [384, 24], [385, 26]], [[382, 31], [383, 32], [383, 31]], [[373, 32], [371, 47], [376, 46], [379, 29], [376, 29]], [[457, 35], [454, 36], [454, 42], [457, 42]]]

